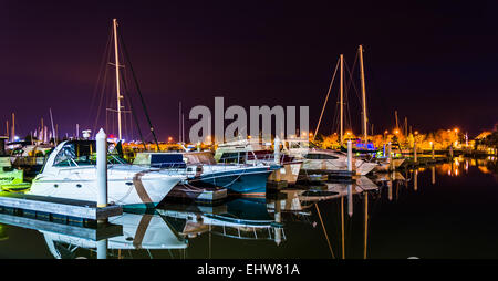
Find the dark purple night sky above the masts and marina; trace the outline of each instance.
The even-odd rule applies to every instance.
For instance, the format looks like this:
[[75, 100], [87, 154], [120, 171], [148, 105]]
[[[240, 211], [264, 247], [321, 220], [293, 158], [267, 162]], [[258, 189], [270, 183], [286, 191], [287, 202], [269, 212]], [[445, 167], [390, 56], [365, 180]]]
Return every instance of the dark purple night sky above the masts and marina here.
[[[421, 132], [458, 126], [475, 136], [498, 122], [496, 2], [103, 2], [0, 1], [0, 134], [12, 112], [20, 136], [41, 117], [50, 125], [49, 108], [60, 135], [93, 127], [113, 18], [159, 140], [177, 137], [179, 101], [187, 113], [214, 111], [215, 96], [226, 107], [308, 105], [314, 128], [339, 54], [352, 66], [359, 44], [374, 133], [394, 127], [395, 110]], [[354, 79], [360, 89], [357, 71]], [[336, 96], [321, 133], [331, 133]]]

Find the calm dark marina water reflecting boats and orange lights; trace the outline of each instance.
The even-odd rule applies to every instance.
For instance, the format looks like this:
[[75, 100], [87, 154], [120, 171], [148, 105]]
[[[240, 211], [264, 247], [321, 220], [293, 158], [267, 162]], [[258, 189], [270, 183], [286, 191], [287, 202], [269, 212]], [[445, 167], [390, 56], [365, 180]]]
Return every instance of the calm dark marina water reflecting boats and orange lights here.
[[[496, 162], [457, 159], [308, 188], [125, 214], [111, 219], [123, 235], [98, 247], [108, 259], [498, 258]], [[32, 229], [13, 219], [0, 214], [0, 258], [97, 257], [96, 242], [64, 226]]]

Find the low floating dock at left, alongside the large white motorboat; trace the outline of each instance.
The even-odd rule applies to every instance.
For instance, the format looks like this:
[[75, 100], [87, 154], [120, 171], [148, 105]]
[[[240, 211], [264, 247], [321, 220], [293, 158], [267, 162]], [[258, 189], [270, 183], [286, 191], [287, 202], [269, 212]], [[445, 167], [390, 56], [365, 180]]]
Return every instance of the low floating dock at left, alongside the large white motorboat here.
[[123, 207], [110, 205], [96, 207], [95, 201], [83, 201], [48, 196], [0, 192], [0, 209], [11, 214], [24, 214], [45, 220], [62, 222], [90, 222], [106, 220], [123, 214]]

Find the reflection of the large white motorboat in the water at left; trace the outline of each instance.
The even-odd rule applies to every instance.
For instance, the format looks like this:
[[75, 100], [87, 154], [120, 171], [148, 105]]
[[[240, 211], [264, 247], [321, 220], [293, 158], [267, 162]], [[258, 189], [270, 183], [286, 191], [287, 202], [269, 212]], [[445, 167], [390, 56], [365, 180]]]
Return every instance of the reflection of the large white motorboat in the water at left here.
[[[50, 252], [58, 259], [77, 258], [76, 250], [81, 250], [81, 248], [97, 249], [97, 258], [101, 256], [120, 259], [129, 258], [127, 254], [137, 257], [141, 254], [137, 251], [123, 250], [146, 250], [147, 256], [154, 258], [149, 250], [181, 250], [188, 246], [187, 240], [179, 236], [158, 214], [124, 212], [122, 216], [110, 218], [108, 222], [122, 226], [123, 235], [95, 241], [77, 238], [70, 233], [40, 232], [43, 233]], [[102, 244], [104, 248], [98, 249]], [[102, 254], [101, 251], [104, 253]]]

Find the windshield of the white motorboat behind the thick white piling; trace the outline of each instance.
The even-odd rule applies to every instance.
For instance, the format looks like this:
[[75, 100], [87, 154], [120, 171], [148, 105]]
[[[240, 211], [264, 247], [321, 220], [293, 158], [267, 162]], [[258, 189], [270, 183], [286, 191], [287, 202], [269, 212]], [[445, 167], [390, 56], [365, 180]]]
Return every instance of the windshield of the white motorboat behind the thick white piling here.
[[[108, 164], [125, 164], [126, 160], [114, 153], [107, 153]], [[53, 166], [84, 166], [96, 165], [95, 142], [66, 143], [55, 156]]]

